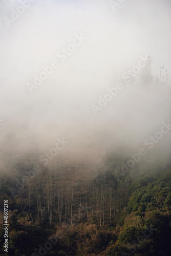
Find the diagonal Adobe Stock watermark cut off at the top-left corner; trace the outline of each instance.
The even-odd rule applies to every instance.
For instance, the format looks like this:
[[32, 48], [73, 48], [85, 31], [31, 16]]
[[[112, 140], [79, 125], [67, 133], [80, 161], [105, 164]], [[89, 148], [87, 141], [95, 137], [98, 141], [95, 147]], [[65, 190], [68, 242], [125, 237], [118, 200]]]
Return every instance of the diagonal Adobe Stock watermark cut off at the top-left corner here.
[[36, 2], [36, 0], [19, 0], [18, 2], [20, 3], [20, 5], [16, 8], [16, 10], [11, 9], [11, 17], [4, 17], [5, 23], [8, 28], [10, 27], [10, 24], [14, 23], [15, 20], [20, 17], [20, 15], [25, 13], [25, 11], [30, 8], [31, 3]]

